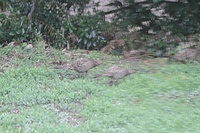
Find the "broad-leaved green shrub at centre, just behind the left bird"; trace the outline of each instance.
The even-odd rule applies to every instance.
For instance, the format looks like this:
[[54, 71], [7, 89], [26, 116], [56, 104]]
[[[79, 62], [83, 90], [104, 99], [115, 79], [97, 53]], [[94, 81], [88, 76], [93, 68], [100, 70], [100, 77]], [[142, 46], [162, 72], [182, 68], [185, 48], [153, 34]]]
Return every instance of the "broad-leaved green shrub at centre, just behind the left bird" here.
[[78, 48], [97, 49], [101, 48], [106, 40], [102, 36], [100, 25], [102, 24], [101, 16], [84, 16], [80, 15], [73, 20], [74, 33], [79, 37]]

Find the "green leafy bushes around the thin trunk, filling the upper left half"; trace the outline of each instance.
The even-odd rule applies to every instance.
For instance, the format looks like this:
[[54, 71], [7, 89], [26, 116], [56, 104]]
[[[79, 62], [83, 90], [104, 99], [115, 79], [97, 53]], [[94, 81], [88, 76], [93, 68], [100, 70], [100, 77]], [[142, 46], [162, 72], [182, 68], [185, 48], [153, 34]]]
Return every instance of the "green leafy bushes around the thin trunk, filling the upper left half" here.
[[0, 3], [3, 8], [1, 10], [8, 11], [10, 15], [0, 13], [0, 43], [29, 41], [39, 35], [52, 46], [59, 48], [67, 45], [66, 37], [73, 32], [79, 38], [76, 48], [96, 49], [105, 42], [100, 36], [99, 18], [78, 15], [71, 21], [69, 15], [70, 8], [78, 9], [78, 14], [81, 14], [88, 2], [89, 0], [37, 0], [36, 8], [30, 15], [34, 5], [31, 1], [3, 1]]

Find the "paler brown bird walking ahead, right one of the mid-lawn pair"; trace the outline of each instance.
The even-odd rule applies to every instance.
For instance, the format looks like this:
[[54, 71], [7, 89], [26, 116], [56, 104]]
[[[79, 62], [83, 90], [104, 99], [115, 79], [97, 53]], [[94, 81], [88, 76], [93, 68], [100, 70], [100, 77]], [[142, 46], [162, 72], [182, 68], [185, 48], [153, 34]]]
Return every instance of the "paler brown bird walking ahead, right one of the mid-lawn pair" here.
[[112, 66], [108, 70], [106, 70], [104, 73], [100, 75], [96, 75], [95, 78], [98, 78], [100, 76], [108, 76], [112, 79], [120, 79], [132, 73], [133, 73], [133, 70], [126, 69], [119, 66]]

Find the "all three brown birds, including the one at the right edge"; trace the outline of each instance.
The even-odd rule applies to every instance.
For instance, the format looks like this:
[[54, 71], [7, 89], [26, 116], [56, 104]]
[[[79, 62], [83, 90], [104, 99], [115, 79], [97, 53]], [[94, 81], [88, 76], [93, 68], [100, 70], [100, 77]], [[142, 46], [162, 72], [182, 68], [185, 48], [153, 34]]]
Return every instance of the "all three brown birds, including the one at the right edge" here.
[[[138, 51], [134, 51], [133, 53], [130, 53], [131, 55], [134, 54], [138, 54]], [[143, 54], [143, 51], [139, 51], [139, 55]], [[172, 57], [178, 61], [182, 61], [185, 59], [192, 59], [194, 60], [198, 55], [200, 55], [200, 46], [198, 46], [196, 49], [186, 49], [184, 51], [181, 51], [180, 53], [178, 53], [176, 56]], [[71, 70], [75, 70], [78, 73], [86, 73], [98, 66], [101, 65], [102, 61], [100, 60], [92, 60], [89, 58], [79, 58], [75, 61], [73, 61], [71, 64], [65, 64], [65, 65], [61, 65], [61, 66], [56, 66], [56, 69], [71, 69]], [[129, 74], [134, 73], [133, 70], [131, 69], [126, 69], [123, 67], [119, 67], [119, 66], [112, 66], [109, 69], [107, 69], [105, 72], [98, 74], [96, 76], [94, 76], [93, 78], [98, 78], [101, 76], [108, 76], [112, 79], [120, 79], [123, 78]]]

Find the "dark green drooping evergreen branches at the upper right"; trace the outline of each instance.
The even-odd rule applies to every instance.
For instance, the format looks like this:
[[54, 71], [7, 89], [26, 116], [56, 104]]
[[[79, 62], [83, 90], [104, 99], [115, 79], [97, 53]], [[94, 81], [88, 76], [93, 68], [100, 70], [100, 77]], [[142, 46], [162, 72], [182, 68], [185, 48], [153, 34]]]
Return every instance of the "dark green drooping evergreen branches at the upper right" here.
[[[146, 0], [135, 2], [126, 0], [109, 4], [117, 10], [107, 12], [116, 13], [118, 25], [123, 28], [139, 26], [143, 33], [149, 30], [171, 31], [173, 33], [192, 34], [199, 32], [200, 3], [197, 0], [162, 1]], [[119, 21], [120, 20], [120, 21]]]

